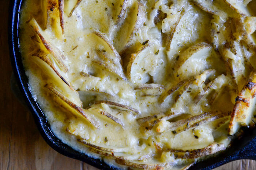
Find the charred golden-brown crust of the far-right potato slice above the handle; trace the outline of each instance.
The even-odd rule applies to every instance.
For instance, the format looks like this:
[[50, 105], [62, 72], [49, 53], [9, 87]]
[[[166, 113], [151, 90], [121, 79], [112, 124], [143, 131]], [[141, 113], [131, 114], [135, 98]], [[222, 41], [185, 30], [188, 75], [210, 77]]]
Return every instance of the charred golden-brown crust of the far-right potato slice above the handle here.
[[255, 75], [256, 75], [256, 71], [252, 71], [248, 82], [245, 84], [244, 88], [242, 89], [242, 91], [239, 93], [239, 95], [236, 98], [236, 104], [235, 104], [235, 106], [233, 108], [233, 111], [231, 113], [231, 118], [230, 118], [230, 122], [229, 122], [228, 131], [229, 131], [230, 135], [233, 135], [235, 133], [231, 129], [233, 129], [235, 124], [238, 123], [238, 122], [236, 122], [237, 116], [240, 115], [240, 114], [243, 114], [243, 112], [240, 111], [241, 105], [245, 104], [246, 107], [249, 107], [249, 104], [250, 104], [249, 99], [245, 99], [243, 97], [244, 94], [245, 94], [246, 89], [249, 89], [251, 91], [252, 98], [254, 98], [255, 95], [256, 95], [256, 82], [253, 82], [253, 76], [255, 76]]

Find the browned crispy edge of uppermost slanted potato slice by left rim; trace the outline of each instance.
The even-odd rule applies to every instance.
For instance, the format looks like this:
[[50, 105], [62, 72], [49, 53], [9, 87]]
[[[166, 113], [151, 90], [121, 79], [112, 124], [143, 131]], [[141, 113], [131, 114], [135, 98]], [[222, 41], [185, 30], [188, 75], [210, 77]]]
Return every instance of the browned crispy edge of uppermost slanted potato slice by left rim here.
[[[34, 20], [34, 19], [33, 19]], [[54, 56], [54, 58], [57, 60], [57, 62], [59, 63], [60, 67], [63, 69], [64, 72], [68, 71], [68, 67], [64, 64], [63, 60], [61, 58], [64, 58], [63, 55], [61, 55], [61, 57], [57, 54], [55, 54], [56, 52], [54, 52], [52, 45], [45, 40], [44, 36], [42, 36], [39, 28], [38, 28], [38, 24], [37, 21], [35, 21], [35, 24], [30, 24], [30, 26], [33, 28], [34, 32], [39, 36], [39, 39], [42, 41], [42, 43], [44, 44], [45, 48], [50, 52], [50, 54], [52, 54]], [[56, 49], [57, 50], [57, 49]], [[60, 51], [58, 51], [60, 53]]]

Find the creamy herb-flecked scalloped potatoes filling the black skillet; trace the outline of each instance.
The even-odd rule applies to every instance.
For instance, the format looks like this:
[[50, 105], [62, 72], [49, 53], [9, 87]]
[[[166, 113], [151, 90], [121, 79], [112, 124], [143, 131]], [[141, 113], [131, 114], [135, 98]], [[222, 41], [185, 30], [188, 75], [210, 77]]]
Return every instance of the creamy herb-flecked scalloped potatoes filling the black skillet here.
[[188, 169], [255, 123], [255, 4], [27, 0], [34, 98], [76, 150], [121, 168]]

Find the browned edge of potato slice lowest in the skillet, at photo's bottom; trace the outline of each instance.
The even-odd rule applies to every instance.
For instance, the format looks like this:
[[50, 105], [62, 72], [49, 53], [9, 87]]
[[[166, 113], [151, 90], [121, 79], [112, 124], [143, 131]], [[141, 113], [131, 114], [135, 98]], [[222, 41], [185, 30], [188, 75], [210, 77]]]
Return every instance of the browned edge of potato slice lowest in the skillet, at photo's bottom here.
[[140, 164], [140, 163], [135, 163], [135, 162], [131, 162], [131, 161], [126, 161], [124, 159], [116, 159], [116, 163], [118, 163], [120, 165], [133, 167], [133, 168], [139, 168], [139, 169], [158, 169], [158, 168], [166, 165], [166, 163], [159, 163], [159, 164], [154, 164], [154, 165]]

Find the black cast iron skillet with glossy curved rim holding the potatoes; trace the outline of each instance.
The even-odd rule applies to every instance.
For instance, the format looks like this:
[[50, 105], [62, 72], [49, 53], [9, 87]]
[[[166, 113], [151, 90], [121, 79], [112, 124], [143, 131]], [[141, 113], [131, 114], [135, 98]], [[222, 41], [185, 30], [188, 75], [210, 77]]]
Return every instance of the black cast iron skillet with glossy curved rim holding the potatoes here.
[[[86, 154], [80, 153], [72, 149], [68, 145], [61, 142], [60, 139], [55, 137], [50, 130], [50, 126], [44, 113], [40, 109], [37, 102], [35, 102], [35, 100], [32, 98], [27, 81], [27, 76], [25, 75], [22, 64], [22, 57], [19, 51], [19, 16], [22, 1], [23, 0], [10, 0], [8, 25], [10, 57], [14, 75], [16, 76], [16, 80], [18, 82], [18, 86], [34, 116], [38, 130], [40, 131], [44, 140], [57, 152], [67, 157], [86, 162], [99, 169], [114, 169], [100, 159], [88, 157]], [[217, 157], [198, 162], [193, 165], [189, 170], [210, 170], [238, 159], [256, 160], [256, 128], [245, 128], [243, 129], [243, 131], [244, 133], [240, 136], [240, 138], [235, 139], [232, 142], [231, 147], [225, 152], [219, 154]]]

